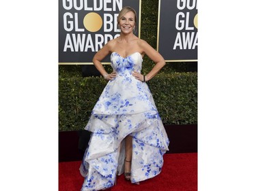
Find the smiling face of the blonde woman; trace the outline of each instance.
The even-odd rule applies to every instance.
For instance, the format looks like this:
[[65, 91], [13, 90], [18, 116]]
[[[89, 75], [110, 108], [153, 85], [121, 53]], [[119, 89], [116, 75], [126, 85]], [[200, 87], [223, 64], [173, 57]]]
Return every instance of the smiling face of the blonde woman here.
[[135, 16], [133, 12], [127, 12], [119, 20], [119, 26], [122, 33], [132, 33], [135, 27]]

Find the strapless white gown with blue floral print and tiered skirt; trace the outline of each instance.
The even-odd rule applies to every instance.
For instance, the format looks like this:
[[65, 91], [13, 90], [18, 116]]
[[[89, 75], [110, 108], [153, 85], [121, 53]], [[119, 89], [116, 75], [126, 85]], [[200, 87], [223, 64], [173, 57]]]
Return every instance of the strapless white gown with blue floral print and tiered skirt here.
[[162, 169], [169, 139], [150, 89], [132, 76], [132, 71], [141, 71], [142, 62], [139, 52], [126, 58], [111, 54], [117, 77], [106, 84], [85, 126], [92, 133], [80, 167], [83, 191], [109, 188], [116, 175], [124, 173], [127, 135], [132, 136], [132, 183], [150, 179]]

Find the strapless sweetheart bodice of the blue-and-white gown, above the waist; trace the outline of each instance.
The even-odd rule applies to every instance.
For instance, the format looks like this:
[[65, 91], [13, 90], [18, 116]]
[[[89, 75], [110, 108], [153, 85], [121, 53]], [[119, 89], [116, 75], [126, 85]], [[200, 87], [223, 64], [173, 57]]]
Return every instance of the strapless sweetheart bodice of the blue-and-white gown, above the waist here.
[[111, 67], [117, 72], [117, 75], [131, 75], [132, 71], [141, 73], [142, 56], [139, 52], [134, 52], [125, 58], [117, 52], [111, 54]]

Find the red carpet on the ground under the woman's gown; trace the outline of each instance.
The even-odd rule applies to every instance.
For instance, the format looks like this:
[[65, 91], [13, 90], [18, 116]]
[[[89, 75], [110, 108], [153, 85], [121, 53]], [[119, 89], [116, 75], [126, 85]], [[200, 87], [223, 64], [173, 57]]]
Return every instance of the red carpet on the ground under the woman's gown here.
[[[59, 162], [59, 191], [79, 191], [83, 177], [79, 173], [81, 161]], [[106, 191], [196, 191], [197, 153], [165, 154], [162, 172], [139, 185], [117, 177], [117, 185]]]

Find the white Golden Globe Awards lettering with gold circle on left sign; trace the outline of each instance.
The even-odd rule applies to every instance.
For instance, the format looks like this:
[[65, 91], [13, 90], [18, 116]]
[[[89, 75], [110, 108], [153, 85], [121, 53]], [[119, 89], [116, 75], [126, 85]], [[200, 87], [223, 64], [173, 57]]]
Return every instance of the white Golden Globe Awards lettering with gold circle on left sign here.
[[123, 0], [62, 0], [63, 52], [98, 52], [119, 36], [117, 16]]

